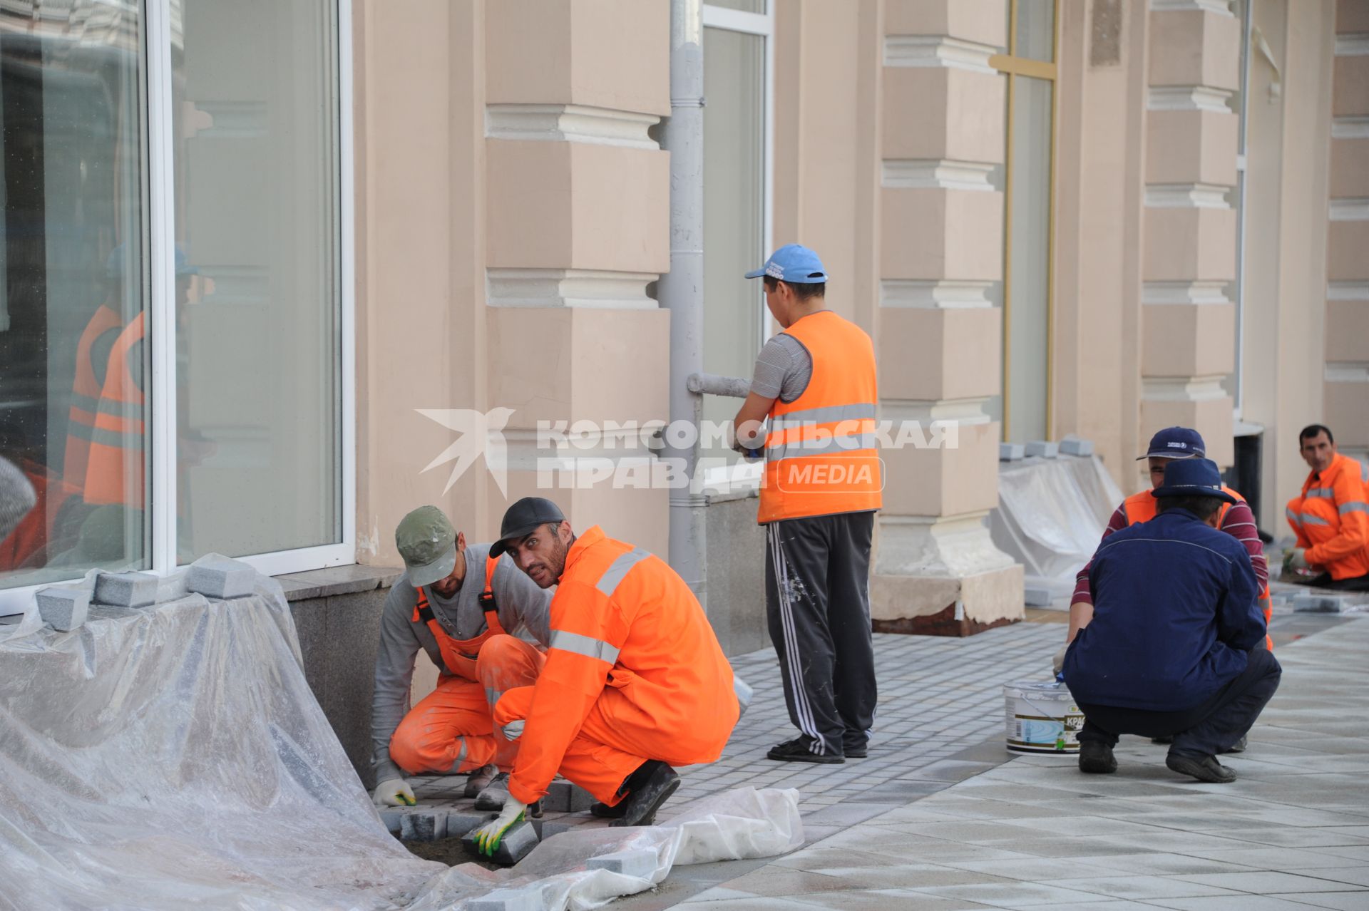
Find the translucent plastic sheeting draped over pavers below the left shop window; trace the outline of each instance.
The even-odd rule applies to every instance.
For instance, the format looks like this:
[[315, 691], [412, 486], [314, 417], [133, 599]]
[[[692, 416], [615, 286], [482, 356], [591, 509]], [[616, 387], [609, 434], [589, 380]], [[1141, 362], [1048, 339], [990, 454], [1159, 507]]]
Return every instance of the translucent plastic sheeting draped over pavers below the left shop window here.
[[[237, 600], [181, 585], [164, 580], [153, 609], [93, 606], [70, 633], [34, 610], [4, 629], [0, 908], [435, 910], [491, 889], [589, 908], [674, 863], [802, 843], [797, 792], [742, 789], [669, 825], [556, 836], [512, 870], [420, 860], [309, 691], [279, 585]], [[620, 851], [653, 859], [585, 867]]]

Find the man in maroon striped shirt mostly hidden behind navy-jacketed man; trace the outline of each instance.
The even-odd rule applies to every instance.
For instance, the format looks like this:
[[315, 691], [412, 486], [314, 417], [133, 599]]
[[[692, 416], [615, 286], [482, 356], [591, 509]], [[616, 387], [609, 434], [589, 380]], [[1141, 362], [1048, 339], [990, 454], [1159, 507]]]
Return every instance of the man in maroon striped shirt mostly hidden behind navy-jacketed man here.
[[[1112, 518], [1108, 520], [1108, 527], [1103, 528], [1103, 539], [1106, 540], [1108, 535], [1112, 535], [1114, 531], [1121, 531], [1128, 525], [1149, 523], [1154, 518], [1157, 514], [1157, 501], [1151, 495], [1151, 490], [1158, 490], [1164, 486], [1165, 466], [1176, 458], [1203, 458], [1206, 450], [1207, 446], [1203, 443], [1202, 435], [1188, 427], [1166, 427], [1151, 436], [1150, 447], [1140, 457], [1149, 462], [1150, 490], [1132, 494], [1121, 502], [1113, 512]], [[1138, 458], [1136, 461], [1140, 460]], [[1269, 564], [1265, 559], [1265, 546], [1259, 540], [1255, 516], [1250, 512], [1250, 506], [1246, 505], [1244, 497], [1225, 486], [1221, 490], [1235, 498], [1236, 502], [1232, 505], [1223, 503], [1218, 512], [1217, 528], [1239, 540], [1244, 546], [1246, 553], [1250, 554], [1250, 565], [1255, 570], [1255, 581], [1259, 583], [1258, 606], [1264, 611], [1265, 626], [1268, 626], [1269, 620], [1273, 617], [1269, 599]], [[1091, 565], [1080, 569], [1076, 576], [1075, 594], [1069, 602], [1066, 646], [1075, 640], [1080, 629], [1088, 625], [1094, 614], [1092, 596], [1088, 591], [1088, 569]], [[1265, 635], [1265, 648], [1269, 651], [1275, 648], [1275, 643], [1268, 633]], [[1062, 658], [1062, 652], [1060, 657]]]

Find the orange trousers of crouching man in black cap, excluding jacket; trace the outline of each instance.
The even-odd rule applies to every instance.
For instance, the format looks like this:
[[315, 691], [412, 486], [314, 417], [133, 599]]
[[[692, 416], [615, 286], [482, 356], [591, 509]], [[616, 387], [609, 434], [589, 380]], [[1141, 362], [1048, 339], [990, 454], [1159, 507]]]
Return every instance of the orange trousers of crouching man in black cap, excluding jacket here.
[[[494, 724], [502, 726], [527, 718], [534, 689], [519, 687], [505, 692], [494, 707]], [[675, 737], [668, 730], [643, 726], [642, 710], [631, 704], [622, 691], [605, 687], [580, 732], [565, 748], [557, 771], [612, 807], [623, 799], [619, 788], [638, 766], [675, 752], [672, 740]]]

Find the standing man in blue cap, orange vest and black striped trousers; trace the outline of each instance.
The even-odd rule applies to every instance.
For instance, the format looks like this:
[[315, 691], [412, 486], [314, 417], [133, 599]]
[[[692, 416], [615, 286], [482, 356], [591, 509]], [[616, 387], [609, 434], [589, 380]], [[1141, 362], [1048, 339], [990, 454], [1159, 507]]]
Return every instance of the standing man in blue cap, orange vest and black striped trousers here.
[[769, 419], [757, 516], [769, 549], [765, 613], [799, 736], [767, 756], [839, 763], [867, 755], [875, 722], [869, 551], [883, 487], [875, 349], [827, 309], [827, 272], [808, 248], [782, 246], [746, 278], [764, 279], [783, 328], [761, 349], [734, 423], [750, 450]]

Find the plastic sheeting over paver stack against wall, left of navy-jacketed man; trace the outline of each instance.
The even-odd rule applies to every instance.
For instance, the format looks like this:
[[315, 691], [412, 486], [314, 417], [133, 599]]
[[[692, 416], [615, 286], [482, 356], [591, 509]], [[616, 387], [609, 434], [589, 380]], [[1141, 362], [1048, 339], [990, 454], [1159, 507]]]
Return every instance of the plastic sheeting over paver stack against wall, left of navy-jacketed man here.
[[1027, 588], [1068, 596], [1123, 501], [1097, 456], [999, 462], [994, 544], [1025, 569]]

